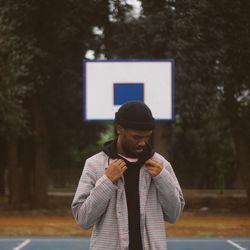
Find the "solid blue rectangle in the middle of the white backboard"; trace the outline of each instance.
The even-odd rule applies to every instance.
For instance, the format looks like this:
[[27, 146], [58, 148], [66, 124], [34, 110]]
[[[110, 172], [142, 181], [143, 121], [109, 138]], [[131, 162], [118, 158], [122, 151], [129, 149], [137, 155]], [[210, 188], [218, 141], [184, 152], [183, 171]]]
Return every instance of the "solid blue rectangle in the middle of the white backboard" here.
[[129, 101], [144, 102], [144, 84], [114, 83], [114, 105], [123, 105]]

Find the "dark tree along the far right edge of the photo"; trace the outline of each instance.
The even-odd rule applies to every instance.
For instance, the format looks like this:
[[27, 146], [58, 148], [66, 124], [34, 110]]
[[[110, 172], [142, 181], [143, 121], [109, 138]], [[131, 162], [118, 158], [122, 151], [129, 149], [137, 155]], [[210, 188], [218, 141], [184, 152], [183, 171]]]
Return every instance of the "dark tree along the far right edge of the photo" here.
[[[250, 209], [250, 3], [248, 1], [209, 2], [214, 10], [214, 26], [222, 36], [217, 59], [221, 110], [228, 121], [235, 147], [237, 169], [248, 194]], [[226, 8], [225, 8], [226, 6]], [[218, 11], [220, 9], [220, 11]], [[221, 46], [223, 45], [223, 46]]]

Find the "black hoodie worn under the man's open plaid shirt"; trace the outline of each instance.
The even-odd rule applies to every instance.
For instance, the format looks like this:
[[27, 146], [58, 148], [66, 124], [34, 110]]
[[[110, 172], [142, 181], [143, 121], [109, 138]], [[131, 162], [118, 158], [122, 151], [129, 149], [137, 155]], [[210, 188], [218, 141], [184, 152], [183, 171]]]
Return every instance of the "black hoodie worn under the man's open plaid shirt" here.
[[112, 159], [123, 159], [126, 162], [127, 170], [124, 172], [126, 200], [128, 207], [129, 225], [129, 250], [142, 250], [140, 230], [140, 198], [139, 198], [139, 175], [140, 168], [145, 161], [150, 159], [154, 151], [149, 144], [146, 144], [137, 162], [129, 162], [117, 154], [116, 142], [109, 141], [104, 144], [103, 151]]

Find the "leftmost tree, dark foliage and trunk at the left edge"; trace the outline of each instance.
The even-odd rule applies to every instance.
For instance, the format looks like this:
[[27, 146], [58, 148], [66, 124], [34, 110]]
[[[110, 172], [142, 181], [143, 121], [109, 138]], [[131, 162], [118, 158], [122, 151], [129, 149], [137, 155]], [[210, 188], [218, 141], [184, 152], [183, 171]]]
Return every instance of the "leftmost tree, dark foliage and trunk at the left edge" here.
[[33, 64], [34, 57], [40, 53], [34, 46], [34, 39], [20, 36], [21, 20], [26, 8], [29, 8], [29, 4], [24, 1], [19, 4], [1, 1], [0, 134], [6, 149], [11, 204], [19, 203], [22, 193], [18, 137], [28, 132], [27, 110], [23, 107], [25, 98], [34, 86], [34, 81], [29, 80], [29, 67]]

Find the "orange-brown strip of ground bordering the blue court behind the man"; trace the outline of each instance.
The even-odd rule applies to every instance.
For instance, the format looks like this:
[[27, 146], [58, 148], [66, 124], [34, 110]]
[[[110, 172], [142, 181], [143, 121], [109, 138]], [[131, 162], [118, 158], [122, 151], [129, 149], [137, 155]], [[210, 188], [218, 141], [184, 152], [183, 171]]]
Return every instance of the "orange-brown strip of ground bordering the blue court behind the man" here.
[[[70, 214], [43, 212], [0, 215], [1, 236], [89, 236]], [[166, 225], [169, 237], [250, 237], [250, 214], [194, 214], [184, 212], [175, 225]]]

